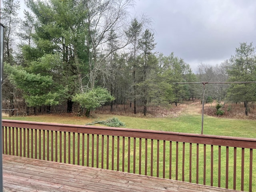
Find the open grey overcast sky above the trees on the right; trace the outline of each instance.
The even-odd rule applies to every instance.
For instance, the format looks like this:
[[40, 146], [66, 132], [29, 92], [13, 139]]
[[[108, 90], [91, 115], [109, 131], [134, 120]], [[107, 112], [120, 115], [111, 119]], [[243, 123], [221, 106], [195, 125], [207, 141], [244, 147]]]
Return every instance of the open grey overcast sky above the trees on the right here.
[[256, 0], [136, 0], [132, 10], [152, 18], [156, 51], [198, 64], [221, 64], [240, 42], [256, 46]]

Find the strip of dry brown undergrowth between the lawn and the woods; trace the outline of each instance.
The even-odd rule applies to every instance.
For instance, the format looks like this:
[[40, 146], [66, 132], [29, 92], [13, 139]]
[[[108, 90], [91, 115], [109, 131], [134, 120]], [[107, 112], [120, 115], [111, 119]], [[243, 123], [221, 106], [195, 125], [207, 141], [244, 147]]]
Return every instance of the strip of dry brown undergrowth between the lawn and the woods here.
[[[204, 104], [204, 114], [220, 118], [243, 118], [243, 119], [256, 119], [256, 104], [249, 104], [248, 116], [245, 115], [245, 108], [243, 103], [232, 104], [226, 103], [224, 108], [222, 108], [224, 114], [222, 116], [216, 115], [216, 102], [205, 103]], [[113, 111], [110, 112], [110, 106], [103, 106], [92, 112], [92, 116], [97, 116], [97, 114], [112, 114], [121, 116], [136, 116], [144, 117], [143, 106], [138, 106], [136, 108], [137, 114], [134, 114], [133, 106], [130, 108], [129, 105], [114, 105]], [[198, 115], [202, 113], [202, 104], [200, 101], [192, 102], [186, 101], [178, 106], [161, 107], [161, 106], [148, 106], [147, 117], [178, 117], [181, 114], [188, 115]]]

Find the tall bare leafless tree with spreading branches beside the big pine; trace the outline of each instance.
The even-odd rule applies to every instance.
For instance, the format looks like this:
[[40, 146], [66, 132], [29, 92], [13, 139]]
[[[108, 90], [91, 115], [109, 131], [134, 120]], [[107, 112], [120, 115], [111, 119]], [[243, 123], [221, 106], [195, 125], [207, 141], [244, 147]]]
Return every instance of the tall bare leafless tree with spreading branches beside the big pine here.
[[[84, 0], [83, 2], [87, 10], [86, 24], [88, 26], [86, 34], [86, 54], [90, 74], [88, 88], [93, 89], [96, 77], [106, 72], [104, 70], [106, 58], [128, 44], [128, 41], [124, 39], [124, 21], [128, 16], [128, 8], [133, 5], [133, 0]], [[108, 38], [113, 31], [117, 34], [114, 39], [121, 38], [122, 40], [112, 49], [106, 49], [107, 43], [114, 40]]]

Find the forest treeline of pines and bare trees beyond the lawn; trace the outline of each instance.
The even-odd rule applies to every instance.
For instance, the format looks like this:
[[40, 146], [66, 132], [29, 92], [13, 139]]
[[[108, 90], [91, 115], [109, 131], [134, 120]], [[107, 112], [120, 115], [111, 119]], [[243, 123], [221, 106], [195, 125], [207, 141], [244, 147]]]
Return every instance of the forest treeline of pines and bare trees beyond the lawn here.
[[[198, 64], [196, 73], [182, 58], [155, 52], [151, 19], [133, 17], [133, 0], [26, 0], [29, 10], [18, 18], [17, 0], [3, 0], [3, 108], [50, 112], [65, 106], [80, 115], [103, 104], [169, 106], [202, 99], [202, 84], [174, 82], [256, 81], [252, 43], [240, 43], [229, 60], [216, 66]], [[171, 43], [171, 42], [170, 42]], [[207, 84], [206, 102], [256, 100], [254, 83]]]

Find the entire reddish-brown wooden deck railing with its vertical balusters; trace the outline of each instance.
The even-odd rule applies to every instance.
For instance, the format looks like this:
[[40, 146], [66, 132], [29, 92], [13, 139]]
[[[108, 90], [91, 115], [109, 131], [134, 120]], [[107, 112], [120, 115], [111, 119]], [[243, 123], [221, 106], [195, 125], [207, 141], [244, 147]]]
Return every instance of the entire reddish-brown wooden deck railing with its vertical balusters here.
[[256, 139], [2, 120], [3, 153], [256, 190]]

